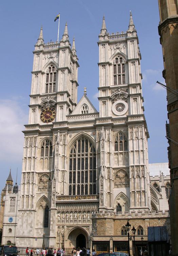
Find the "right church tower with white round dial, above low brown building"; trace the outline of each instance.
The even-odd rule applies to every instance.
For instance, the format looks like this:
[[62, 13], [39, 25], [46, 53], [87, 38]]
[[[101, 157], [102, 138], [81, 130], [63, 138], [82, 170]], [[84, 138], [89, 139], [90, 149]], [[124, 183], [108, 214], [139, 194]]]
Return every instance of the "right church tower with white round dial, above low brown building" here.
[[[128, 30], [109, 34], [105, 17], [99, 34], [99, 118], [105, 140], [101, 169], [109, 169], [110, 181], [100, 177], [103, 190], [100, 209], [151, 210], [149, 138], [142, 96], [141, 54], [132, 13]], [[112, 145], [112, 146], [111, 146]], [[101, 175], [100, 175], [101, 176]], [[109, 183], [109, 184], [108, 184]], [[104, 198], [103, 198], [104, 197]], [[104, 206], [103, 206], [104, 205]]]

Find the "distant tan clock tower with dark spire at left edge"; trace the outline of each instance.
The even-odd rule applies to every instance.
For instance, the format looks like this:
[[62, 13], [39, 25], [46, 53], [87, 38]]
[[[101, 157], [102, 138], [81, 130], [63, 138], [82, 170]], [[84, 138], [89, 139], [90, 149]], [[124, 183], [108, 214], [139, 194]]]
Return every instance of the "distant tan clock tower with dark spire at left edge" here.
[[8, 178], [6, 180], [5, 187], [2, 189], [2, 192], [1, 192], [0, 229], [3, 227], [5, 194], [6, 194], [7, 186], [8, 186], [8, 193], [11, 193], [12, 192], [12, 187], [13, 187], [13, 179], [12, 179], [12, 175], [11, 175], [11, 169], [10, 169], [10, 173], [8, 175]]

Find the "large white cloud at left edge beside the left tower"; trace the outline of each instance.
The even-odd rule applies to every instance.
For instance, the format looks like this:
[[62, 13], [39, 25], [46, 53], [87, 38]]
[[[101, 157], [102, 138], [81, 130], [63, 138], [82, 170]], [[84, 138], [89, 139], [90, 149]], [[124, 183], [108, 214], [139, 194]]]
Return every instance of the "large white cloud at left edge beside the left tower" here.
[[28, 115], [25, 113], [20, 99], [3, 99], [0, 101], [1, 109], [1, 154], [0, 160], [22, 159], [23, 152], [23, 124], [27, 123]]

